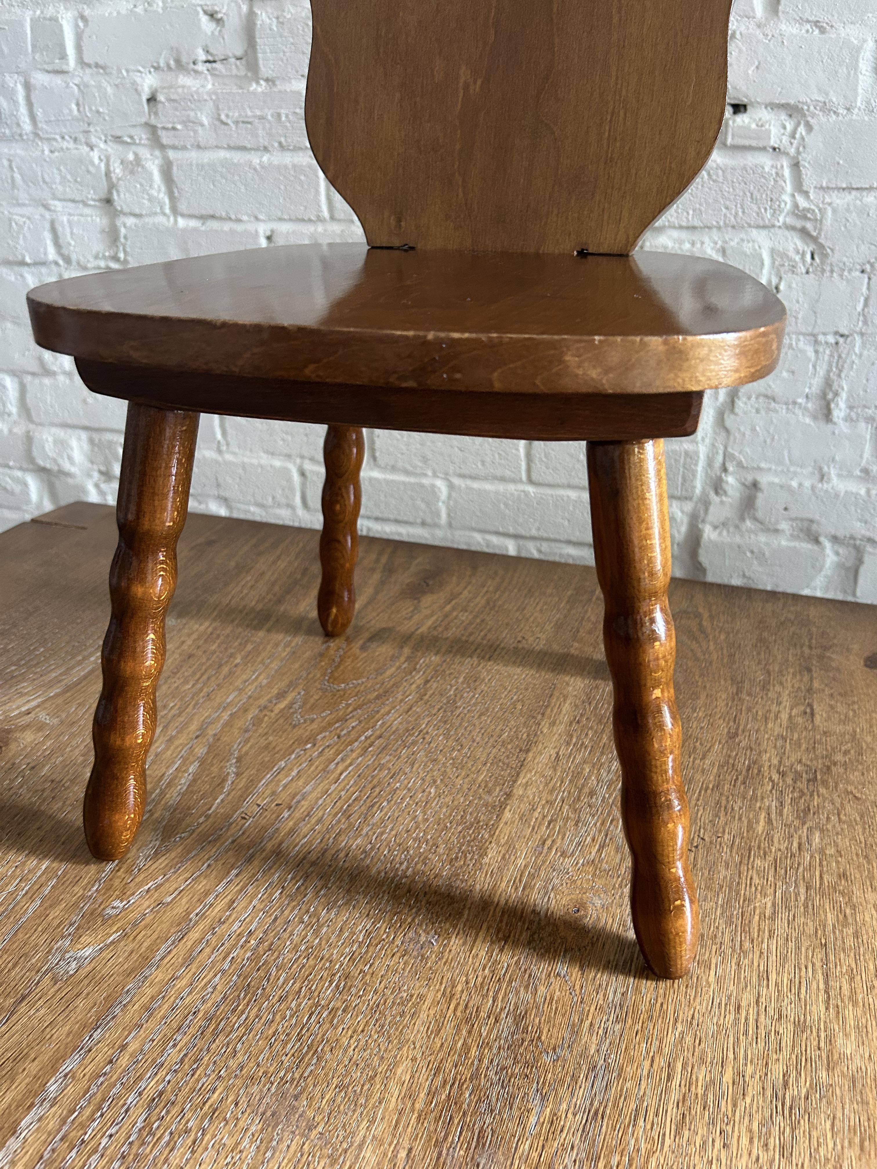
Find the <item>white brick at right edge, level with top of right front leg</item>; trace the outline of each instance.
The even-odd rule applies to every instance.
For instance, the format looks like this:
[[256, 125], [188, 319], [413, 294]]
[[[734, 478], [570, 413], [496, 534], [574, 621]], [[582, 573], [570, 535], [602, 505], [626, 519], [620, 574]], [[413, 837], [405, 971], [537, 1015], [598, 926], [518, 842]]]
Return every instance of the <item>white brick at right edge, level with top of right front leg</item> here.
[[830, 470], [856, 475], [865, 461], [870, 426], [833, 423], [782, 414], [741, 415], [727, 420], [727, 466], [759, 470]]

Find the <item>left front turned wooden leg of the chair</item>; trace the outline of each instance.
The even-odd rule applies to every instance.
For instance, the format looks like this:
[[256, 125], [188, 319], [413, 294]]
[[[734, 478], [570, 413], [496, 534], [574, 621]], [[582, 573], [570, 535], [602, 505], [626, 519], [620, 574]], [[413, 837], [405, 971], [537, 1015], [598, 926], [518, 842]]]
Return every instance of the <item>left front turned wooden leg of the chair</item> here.
[[130, 402], [110, 568], [110, 625], [95, 711], [95, 766], [85, 788], [88, 846], [101, 860], [131, 848], [146, 803], [146, 755], [165, 662], [165, 614], [177, 586], [198, 414]]

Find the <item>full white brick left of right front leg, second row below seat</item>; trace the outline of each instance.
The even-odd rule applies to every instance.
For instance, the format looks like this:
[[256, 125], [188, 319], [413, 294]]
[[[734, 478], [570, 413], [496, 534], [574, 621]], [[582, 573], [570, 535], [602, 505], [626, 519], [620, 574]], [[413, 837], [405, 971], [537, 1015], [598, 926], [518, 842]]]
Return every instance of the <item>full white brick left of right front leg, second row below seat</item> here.
[[592, 542], [588, 498], [581, 491], [457, 483], [449, 491], [448, 521], [453, 528]]

